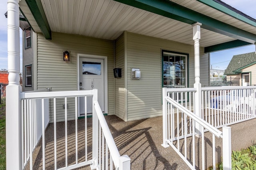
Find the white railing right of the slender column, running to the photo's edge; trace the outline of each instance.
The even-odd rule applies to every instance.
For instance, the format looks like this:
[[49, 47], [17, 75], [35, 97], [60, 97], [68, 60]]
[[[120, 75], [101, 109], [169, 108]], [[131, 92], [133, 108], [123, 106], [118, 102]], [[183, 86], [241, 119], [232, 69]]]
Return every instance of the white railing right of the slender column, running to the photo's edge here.
[[214, 127], [256, 117], [255, 86], [202, 88], [202, 117]]

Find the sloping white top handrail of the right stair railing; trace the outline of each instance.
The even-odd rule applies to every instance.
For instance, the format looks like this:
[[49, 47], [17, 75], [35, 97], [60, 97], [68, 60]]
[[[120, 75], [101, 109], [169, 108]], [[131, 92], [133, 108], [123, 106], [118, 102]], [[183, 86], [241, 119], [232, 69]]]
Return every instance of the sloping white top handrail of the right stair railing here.
[[168, 96], [166, 97], [166, 101], [170, 102], [172, 105], [174, 105], [175, 107], [177, 107], [178, 109], [180, 109], [181, 111], [186, 113], [186, 115], [188, 115], [189, 117], [194, 119], [194, 121], [196, 121], [197, 123], [202, 125], [204, 128], [208, 129], [216, 137], [218, 137], [218, 138], [222, 137], [222, 132], [220, 130], [216, 129], [215, 127], [213, 127], [212, 125], [210, 125], [209, 123], [204, 121], [202, 118], [200, 118], [197, 115], [195, 115], [194, 113], [192, 113], [192, 111], [188, 110], [186, 107], [183, 107], [178, 102], [176, 102], [175, 100], [173, 100], [172, 98], [170, 98]]

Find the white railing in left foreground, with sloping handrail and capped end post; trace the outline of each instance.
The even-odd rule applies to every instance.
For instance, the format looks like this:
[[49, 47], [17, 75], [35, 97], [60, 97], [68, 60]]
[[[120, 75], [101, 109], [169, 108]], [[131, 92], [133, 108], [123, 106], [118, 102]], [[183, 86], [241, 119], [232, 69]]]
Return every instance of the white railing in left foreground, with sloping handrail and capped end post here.
[[[78, 98], [84, 98], [85, 102], [85, 110], [86, 110], [86, 99], [88, 96], [92, 96], [93, 101], [93, 113], [92, 113], [92, 131], [88, 129], [87, 119], [84, 119], [84, 135], [78, 133]], [[119, 170], [128, 170], [130, 169], [130, 158], [128, 156], [120, 156], [117, 147], [114, 143], [114, 139], [110, 133], [108, 125], [106, 124], [106, 120], [102, 114], [102, 111], [97, 102], [97, 90], [87, 90], [87, 91], [65, 91], [65, 92], [30, 92], [30, 93], [21, 93], [20, 98], [22, 103], [24, 104], [24, 110], [22, 113], [22, 165], [23, 168], [27, 164], [29, 159], [30, 170], [33, 169], [34, 161], [33, 160], [33, 150], [38, 143], [38, 137], [40, 133], [37, 133], [36, 129], [42, 130], [42, 169], [47, 168], [47, 164], [49, 165], [52, 160], [54, 160], [54, 166], [52, 169], [74, 169], [79, 168], [81, 166], [91, 165], [91, 168], [94, 169], [113, 169], [113, 162], [116, 169]], [[58, 100], [64, 100], [64, 111], [63, 114], [65, 116], [65, 126], [64, 129], [57, 129], [56, 122], [56, 105]], [[74, 100], [74, 101], [73, 101]], [[54, 114], [54, 134], [53, 134], [53, 142], [47, 143], [44, 128], [48, 123], [49, 119], [46, 115], [48, 115], [48, 101], [50, 101], [53, 105], [53, 114]], [[74, 135], [71, 137], [68, 135], [68, 101], [74, 102], [74, 114], [75, 114], [75, 129], [71, 129], [71, 131], [75, 131]], [[34, 104], [36, 103], [36, 105]], [[71, 104], [72, 105], [72, 104]], [[22, 105], [23, 106], [23, 105]], [[42, 110], [39, 107], [32, 106], [42, 106]], [[48, 107], [48, 108], [47, 108]], [[40, 111], [39, 111], [39, 110]], [[27, 111], [28, 110], [28, 111]], [[38, 113], [38, 114], [37, 114]], [[46, 123], [47, 122], [47, 123]], [[23, 126], [24, 124], [24, 126]], [[73, 127], [73, 126], [71, 126]], [[100, 129], [100, 130], [99, 130]], [[102, 129], [102, 130], [101, 130]], [[65, 131], [65, 137], [63, 139], [57, 139], [57, 133], [59, 131]], [[90, 133], [90, 134], [89, 134]], [[89, 139], [88, 135], [92, 135], [92, 138]], [[83, 137], [81, 137], [83, 136]], [[40, 138], [40, 137], [39, 137]], [[84, 155], [81, 154], [78, 160], [78, 143], [82, 140]], [[81, 142], [80, 142], [81, 143]], [[62, 145], [63, 144], [63, 145]], [[69, 149], [69, 145], [75, 145], [74, 149]], [[8, 148], [7, 148], [8, 149]], [[57, 150], [62, 152], [57, 152]], [[51, 154], [50, 151], [53, 153]], [[108, 154], [109, 150], [109, 154]], [[70, 152], [74, 155], [74, 161], [70, 163]], [[74, 152], [74, 153], [73, 153]], [[39, 153], [38, 153], [39, 154]], [[52, 157], [51, 157], [52, 156]], [[59, 161], [59, 157], [61, 160], [64, 160], [63, 167], [57, 167], [57, 161]], [[110, 158], [110, 159], [108, 159]], [[82, 160], [83, 159], [83, 160]], [[69, 162], [68, 162], [69, 161]], [[105, 163], [104, 163], [105, 162]]]

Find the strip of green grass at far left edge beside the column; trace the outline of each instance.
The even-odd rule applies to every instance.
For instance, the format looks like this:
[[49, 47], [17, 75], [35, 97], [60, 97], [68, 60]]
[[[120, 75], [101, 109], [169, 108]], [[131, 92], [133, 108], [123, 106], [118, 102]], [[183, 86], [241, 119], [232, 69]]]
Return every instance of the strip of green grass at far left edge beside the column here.
[[0, 104], [0, 170], [6, 170], [5, 100]]

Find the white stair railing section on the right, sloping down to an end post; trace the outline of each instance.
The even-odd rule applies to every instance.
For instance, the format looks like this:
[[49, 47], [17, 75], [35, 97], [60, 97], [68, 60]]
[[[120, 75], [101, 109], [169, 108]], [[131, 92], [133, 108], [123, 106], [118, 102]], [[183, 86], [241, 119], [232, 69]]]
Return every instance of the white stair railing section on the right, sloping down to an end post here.
[[[206, 166], [212, 165], [215, 170], [215, 137], [222, 138], [223, 167], [224, 170], [229, 170], [231, 169], [231, 129], [223, 127], [221, 132], [192, 112], [188, 101], [190, 101], [189, 103], [194, 101], [195, 92], [195, 88], [183, 90], [163, 88], [162, 146], [168, 147], [170, 145], [193, 170], [196, 169], [196, 162], [199, 169], [206, 169]], [[182, 98], [182, 96], [185, 98]], [[193, 105], [195, 104], [195, 102], [192, 103]], [[210, 140], [210, 138], [205, 138], [204, 131], [209, 131], [212, 134], [210, 149], [205, 146], [206, 140]], [[196, 135], [201, 136], [201, 146], [199, 146], [200, 140], [196, 142]], [[209, 150], [212, 151], [211, 156], [209, 155]], [[210, 164], [208, 161], [206, 165], [206, 160], [210, 157], [212, 157], [212, 161]]]

